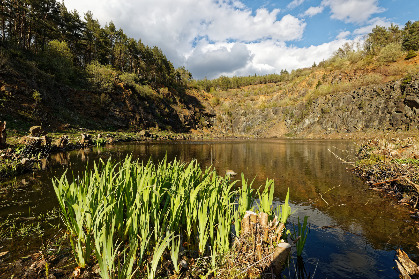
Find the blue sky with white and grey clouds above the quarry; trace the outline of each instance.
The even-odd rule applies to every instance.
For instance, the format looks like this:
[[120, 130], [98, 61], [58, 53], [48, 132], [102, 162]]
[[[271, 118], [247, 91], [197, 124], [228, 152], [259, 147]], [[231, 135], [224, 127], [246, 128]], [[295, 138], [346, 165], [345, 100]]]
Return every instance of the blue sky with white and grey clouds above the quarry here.
[[310, 67], [375, 25], [419, 20], [418, 0], [66, 0], [158, 46], [194, 78]]

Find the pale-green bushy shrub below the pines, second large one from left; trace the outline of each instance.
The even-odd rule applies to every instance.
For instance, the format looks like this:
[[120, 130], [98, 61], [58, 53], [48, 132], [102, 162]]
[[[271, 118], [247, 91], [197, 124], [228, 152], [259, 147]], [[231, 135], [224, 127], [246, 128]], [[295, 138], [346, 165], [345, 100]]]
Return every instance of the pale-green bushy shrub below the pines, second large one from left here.
[[96, 93], [109, 93], [114, 89], [114, 81], [109, 66], [101, 65], [97, 60], [86, 66], [89, 87]]

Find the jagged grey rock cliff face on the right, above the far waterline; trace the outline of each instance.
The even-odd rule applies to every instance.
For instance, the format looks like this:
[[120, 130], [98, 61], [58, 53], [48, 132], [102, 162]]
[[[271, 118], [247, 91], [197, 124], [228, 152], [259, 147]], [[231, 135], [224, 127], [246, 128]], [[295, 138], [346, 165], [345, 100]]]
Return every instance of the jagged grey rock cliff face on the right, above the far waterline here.
[[[296, 105], [261, 109], [235, 109], [212, 117], [224, 133], [255, 136], [417, 131], [419, 128], [419, 76], [396, 82], [359, 87]], [[273, 98], [273, 97], [272, 97]], [[271, 98], [271, 99], [272, 99]], [[272, 102], [272, 100], [271, 100]]]

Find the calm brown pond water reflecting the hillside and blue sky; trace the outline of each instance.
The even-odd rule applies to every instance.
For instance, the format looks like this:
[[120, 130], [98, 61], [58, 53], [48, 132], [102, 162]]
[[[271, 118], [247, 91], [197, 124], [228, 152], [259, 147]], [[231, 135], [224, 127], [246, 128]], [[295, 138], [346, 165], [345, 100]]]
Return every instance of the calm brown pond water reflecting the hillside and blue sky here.
[[[168, 159], [197, 159], [203, 166], [212, 164], [219, 174], [226, 169], [238, 174], [244, 171], [249, 179], [256, 176], [256, 187], [266, 178], [274, 179], [277, 204], [282, 203], [290, 189], [292, 210], [297, 209], [293, 216], [310, 216], [310, 233], [303, 262], [294, 257], [284, 272], [288, 278], [307, 278], [315, 270], [314, 278], [398, 278], [394, 269], [396, 249], [402, 248], [411, 255], [418, 253], [413, 248], [418, 240], [418, 226], [409, 216], [408, 207], [394, 205], [391, 198], [368, 189], [328, 151], [347, 157], [339, 149], [353, 147], [350, 141], [309, 139], [154, 141], [115, 144], [93, 148], [91, 152], [57, 153], [42, 165], [44, 170], [9, 180], [26, 186], [23, 192], [0, 197], [0, 205], [14, 202], [0, 208], [0, 218], [10, 214], [39, 215], [58, 207], [51, 177], [66, 169], [77, 174], [85, 164], [93, 166], [93, 160], [98, 161], [99, 156], [132, 153], [144, 161], [150, 155], [158, 160], [167, 151]], [[322, 229], [323, 226], [336, 228]], [[45, 240], [48, 237], [44, 235]], [[28, 247], [39, 247], [39, 241], [32, 239]], [[16, 253], [21, 248], [18, 243], [10, 243], [0, 252], [7, 249]]]

